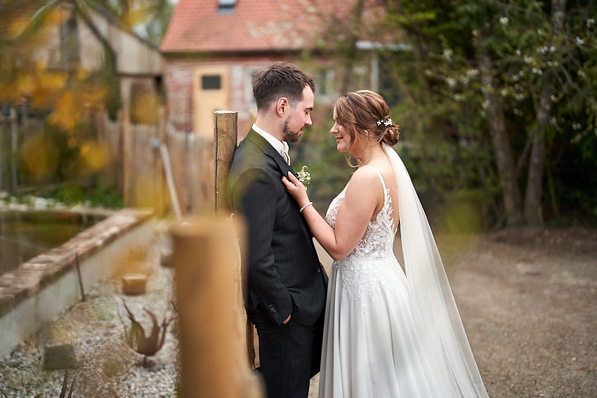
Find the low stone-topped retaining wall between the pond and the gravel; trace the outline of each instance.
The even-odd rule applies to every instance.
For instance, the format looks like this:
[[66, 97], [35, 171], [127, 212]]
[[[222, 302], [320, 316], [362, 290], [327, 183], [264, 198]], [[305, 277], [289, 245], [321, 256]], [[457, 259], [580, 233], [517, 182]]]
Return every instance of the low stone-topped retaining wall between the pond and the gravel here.
[[109, 277], [132, 246], [154, 236], [151, 211], [125, 208], [62, 246], [0, 276], [0, 358], [66, 307], [81, 299], [75, 255], [84, 290]]

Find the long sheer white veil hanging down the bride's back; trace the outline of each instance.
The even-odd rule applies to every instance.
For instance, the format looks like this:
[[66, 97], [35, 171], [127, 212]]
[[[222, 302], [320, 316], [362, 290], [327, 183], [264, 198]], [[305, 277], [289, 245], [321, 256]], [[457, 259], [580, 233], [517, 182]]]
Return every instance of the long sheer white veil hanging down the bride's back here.
[[488, 397], [442, 259], [405, 165], [382, 144], [398, 185], [400, 234], [413, 317], [442, 397]]

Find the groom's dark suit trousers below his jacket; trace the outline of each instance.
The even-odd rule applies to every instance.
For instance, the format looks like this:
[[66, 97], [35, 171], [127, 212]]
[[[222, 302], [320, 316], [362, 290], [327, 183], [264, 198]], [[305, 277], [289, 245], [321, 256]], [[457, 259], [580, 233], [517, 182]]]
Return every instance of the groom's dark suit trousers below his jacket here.
[[265, 314], [251, 317], [259, 338], [261, 376], [268, 398], [306, 398], [320, 369], [323, 315], [314, 325], [290, 319], [277, 325]]

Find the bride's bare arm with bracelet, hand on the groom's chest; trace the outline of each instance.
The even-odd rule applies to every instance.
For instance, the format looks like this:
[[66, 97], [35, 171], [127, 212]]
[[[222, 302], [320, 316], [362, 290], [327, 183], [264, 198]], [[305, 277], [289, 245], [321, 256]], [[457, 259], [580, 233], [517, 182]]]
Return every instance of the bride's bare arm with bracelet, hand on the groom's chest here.
[[[299, 207], [309, 203], [305, 187], [294, 175], [289, 173], [289, 178], [282, 177], [282, 183]], [[376, 185], [379, 185], [379, 178], [374, 171], [361, 168], [353, 174], [338, 210], [335, 228], [330, 227], [313, 206], [303, 208], [303, 217], [313, 236], [334, 260], [348, 256], [365, 234], [369, 220], [379, 205], [381, 185]]]

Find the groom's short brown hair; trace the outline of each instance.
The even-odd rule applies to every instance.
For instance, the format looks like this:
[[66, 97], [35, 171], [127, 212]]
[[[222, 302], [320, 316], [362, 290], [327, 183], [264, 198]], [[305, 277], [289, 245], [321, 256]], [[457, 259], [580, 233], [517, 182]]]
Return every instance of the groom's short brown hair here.
[[273, 62], [254, 74], [253, 96], [258, 110], [266, 110], [281, 97], [288, 98], [291, 106], [303, 99], [303, 90], [309, 86], [315, 93], [315, 79], [290, 62]]

